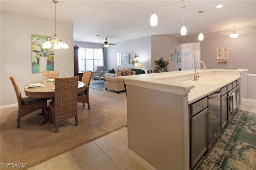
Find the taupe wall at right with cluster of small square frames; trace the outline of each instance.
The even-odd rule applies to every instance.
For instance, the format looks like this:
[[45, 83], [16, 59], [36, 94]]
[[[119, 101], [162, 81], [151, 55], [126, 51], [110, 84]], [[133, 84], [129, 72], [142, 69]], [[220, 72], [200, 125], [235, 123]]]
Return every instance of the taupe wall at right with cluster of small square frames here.
[[[256, 34], [242, 34], [236, 39], [228, 35], [210, 36], [205, 35], [201, 41], [201, 60], [205, 62], [207, 68], [217, 69], [237, 69], [247, 68], [248, 73], [256, 73]], [[198, 42], [197, 36], [183, 37], [180, 43]], [[212, 47], [211, 47], [212, 44]], [[228, 64], [218, 64], [216, 60], [216, 48], [228, 47]]]

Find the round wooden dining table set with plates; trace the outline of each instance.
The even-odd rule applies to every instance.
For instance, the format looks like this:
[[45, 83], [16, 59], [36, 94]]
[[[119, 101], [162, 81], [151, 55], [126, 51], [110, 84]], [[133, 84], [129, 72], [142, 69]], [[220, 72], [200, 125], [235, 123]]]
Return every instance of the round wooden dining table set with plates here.
[[[55, 83], [54, 81], [51, 82], [35, 82], [39, 83], [38, 86], [31, 86], [31, 84], [26, 84], [24, 86], [24, 91], [26, 96], [30, 98], [47, 98], [52, 99], [54, 98], [54, 88]], [[32, 83], [32, 84], [35, 84]], [[83, 92], [86, 89], [86, 84], [84, 82], [78, 81], [78, 93]], [[46, 115], [44, 115], [44, 120], [40, 125], [44, 125], [49, 119], [49, 111], [47, 110]]]

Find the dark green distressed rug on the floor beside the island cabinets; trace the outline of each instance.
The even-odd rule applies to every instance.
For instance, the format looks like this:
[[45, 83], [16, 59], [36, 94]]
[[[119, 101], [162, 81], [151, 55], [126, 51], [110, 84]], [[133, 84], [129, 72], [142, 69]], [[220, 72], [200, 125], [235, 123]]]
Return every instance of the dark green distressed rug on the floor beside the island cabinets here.
[[237, 110], [195, 170], [256, 170], [256, 113]]

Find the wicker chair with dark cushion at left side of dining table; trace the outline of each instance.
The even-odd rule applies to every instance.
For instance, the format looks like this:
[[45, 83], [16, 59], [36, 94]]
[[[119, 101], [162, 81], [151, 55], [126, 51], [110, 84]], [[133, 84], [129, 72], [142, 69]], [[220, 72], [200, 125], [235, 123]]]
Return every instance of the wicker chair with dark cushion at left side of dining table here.
[[16, 97], [18, 100], [18, 118], [17, 118], [17, 128], [20, 127], [20, 119], [36, 110], [42, 109], [42, 114], [46, 115], [46, 107], [47, 107], [47, 101], [44, 98], [22, 98], [20, 87], [18, 86], [18, 83], [16, 81], [16, 78], [14, 76], [9, 77], [12, 85], [14, 87]]

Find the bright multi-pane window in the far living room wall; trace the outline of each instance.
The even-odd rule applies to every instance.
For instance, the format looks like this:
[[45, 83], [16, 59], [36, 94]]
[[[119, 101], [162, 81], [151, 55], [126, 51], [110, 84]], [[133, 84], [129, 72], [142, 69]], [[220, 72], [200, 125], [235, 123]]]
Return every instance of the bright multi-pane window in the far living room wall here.
[[78, 71], [92, 71], [96, 66], [104, 66], [103, 48], [79, 48]]

